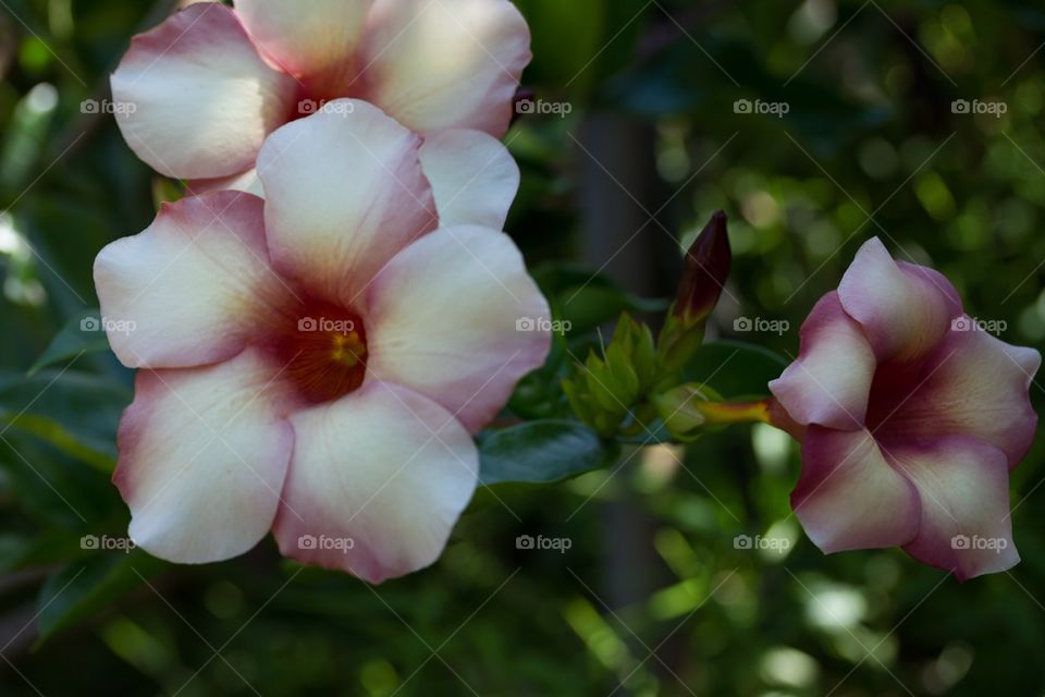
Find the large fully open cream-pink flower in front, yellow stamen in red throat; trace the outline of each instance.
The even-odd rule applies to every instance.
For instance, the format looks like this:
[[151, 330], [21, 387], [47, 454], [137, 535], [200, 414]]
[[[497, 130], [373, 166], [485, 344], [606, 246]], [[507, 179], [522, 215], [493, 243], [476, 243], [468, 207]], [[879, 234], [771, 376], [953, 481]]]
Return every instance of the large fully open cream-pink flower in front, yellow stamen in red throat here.
[[202, 563], [271, 528], [371, 582], [439, 557], [470, 432], [551, 340], [517, 331], [549, 308], [507, 235], [435, 229], [418, 146], [366, 102], [295, 121], [261, 148], [267, 200], [165, 205], [98, 255], [102, 313], [134, 327], [113, 351], [142, 368], [114, 475], [137, 545]]

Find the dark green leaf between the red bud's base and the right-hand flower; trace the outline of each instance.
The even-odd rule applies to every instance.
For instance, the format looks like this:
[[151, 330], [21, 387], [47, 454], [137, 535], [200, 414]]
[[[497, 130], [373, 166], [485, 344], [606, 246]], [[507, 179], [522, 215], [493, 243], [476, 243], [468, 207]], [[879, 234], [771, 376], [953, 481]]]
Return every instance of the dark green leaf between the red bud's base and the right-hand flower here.
[[684, 382], [703, 382], [727, 399], [765, 396], [769, 382], [780, 377], [788, 360], [742, 341], [717, 341], [701, 346], [684, 370]]

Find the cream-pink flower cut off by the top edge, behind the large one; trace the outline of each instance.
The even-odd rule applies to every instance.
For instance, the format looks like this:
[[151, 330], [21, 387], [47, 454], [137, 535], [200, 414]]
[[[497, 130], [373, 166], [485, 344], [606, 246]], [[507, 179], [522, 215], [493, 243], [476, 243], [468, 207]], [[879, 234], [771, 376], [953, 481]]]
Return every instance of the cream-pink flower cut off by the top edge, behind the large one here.
[[116, 110], [116, 122], [155, 170], [201, 180], [196, 193], [260, 195], [253, 169], [265, 137], [341, 97], [439, 133], [426, 144], [435, 157], [456, 146], [487, 163], [529, 45], [508, 0], [207, 2], [136, 36], [112, 94], [134, 107]]

